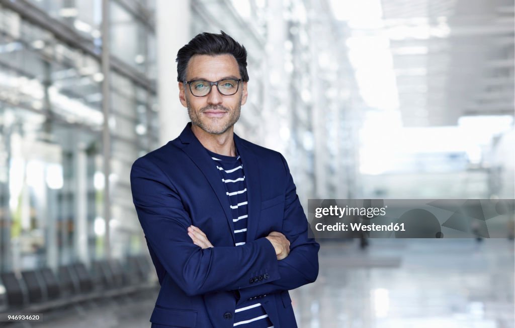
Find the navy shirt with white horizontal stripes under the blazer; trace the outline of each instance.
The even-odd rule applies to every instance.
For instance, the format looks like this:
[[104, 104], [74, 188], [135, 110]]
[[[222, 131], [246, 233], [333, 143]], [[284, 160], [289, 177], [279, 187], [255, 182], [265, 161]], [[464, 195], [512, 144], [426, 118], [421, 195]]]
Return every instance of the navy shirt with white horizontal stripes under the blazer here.
[[[245, 245], [249, 218], [242, 160], [239, 156], [223, 156], [209, 150], [208, 153], [215, 161], [216, 169], [220, 172], [221, 181], [225, 185], [226, 195], [229, 197], [235, 246]], [[246, 301], [236, 308], [233, 325], [238, 328], [273, 328], [265, 308], [255, 300]]]

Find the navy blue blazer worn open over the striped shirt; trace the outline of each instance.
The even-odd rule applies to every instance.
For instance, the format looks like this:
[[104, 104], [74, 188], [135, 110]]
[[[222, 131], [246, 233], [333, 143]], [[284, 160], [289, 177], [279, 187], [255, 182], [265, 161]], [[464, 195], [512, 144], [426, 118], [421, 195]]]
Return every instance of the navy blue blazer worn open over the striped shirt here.
[[[219, 172], [188, 123], [180, 136], [132, 165], [132, 198], [161, 284], [152, 327], [232, 327], [238, 304], [258, 299], [276, 328], [296, 327], [288, 290], [314, 282], [319, 244], [283, 156], [234, 134], [248, 190], [245, 245], [234, 246], [230, 205]], [[199, 227], [214, 245], [187, 235]], [[271, 231], [290, 241], [278, 261]]]

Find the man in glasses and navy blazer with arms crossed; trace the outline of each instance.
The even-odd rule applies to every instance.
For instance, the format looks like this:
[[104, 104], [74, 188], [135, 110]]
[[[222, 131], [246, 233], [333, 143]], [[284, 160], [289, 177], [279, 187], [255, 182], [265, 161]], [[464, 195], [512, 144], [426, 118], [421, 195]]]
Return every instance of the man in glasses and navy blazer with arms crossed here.
[[152, 327], [296, 327], [288, 290], [315, 281], [319, 245], [282, 155], [233, 132], [247, 52], [224, 32], [202, 33], [177, 63], [191, 123], [131, 170], [161, 284]]

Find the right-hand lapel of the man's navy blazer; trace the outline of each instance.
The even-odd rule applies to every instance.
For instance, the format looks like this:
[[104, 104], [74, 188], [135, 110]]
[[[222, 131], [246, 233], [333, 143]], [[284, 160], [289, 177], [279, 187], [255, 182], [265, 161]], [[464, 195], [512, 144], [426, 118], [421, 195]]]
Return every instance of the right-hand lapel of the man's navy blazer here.
[[234, 142], [239, 156], [242, 158], [243, 171], [245, 173], [245, 183], [247, 185], [248, 219], [247, 219], [247, 240], [253, 241], [258, 230], [259, 218], [261, 215], [261, 183], [259, 158], [246, 147], [242, 139], [234, 134]]

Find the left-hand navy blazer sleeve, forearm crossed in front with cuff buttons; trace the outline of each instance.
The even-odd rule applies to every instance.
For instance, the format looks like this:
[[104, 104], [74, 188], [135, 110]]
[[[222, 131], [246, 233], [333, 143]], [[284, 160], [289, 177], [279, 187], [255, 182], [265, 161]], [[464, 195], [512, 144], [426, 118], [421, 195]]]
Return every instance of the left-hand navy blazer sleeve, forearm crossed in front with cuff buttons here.
[[270, 241], [256, 239], [238, 247], [202, 249], [187, 235], [192, 219], [165, 173], [145, 157], [131, 169], [136, 212], [149, 246], [186, 295], [232, 291], [265, 283], [249, 281], [252, 273], [267, 272], [279, 279], [276, 252]]

